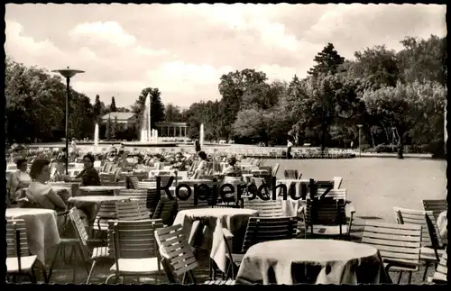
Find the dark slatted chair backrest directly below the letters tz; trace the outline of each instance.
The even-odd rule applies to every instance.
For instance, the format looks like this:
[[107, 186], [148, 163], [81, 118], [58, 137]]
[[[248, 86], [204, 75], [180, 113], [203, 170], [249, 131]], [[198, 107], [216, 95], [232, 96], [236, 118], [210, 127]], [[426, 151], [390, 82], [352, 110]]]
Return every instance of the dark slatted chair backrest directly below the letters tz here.
[[345, 201], [334, 197], [321, 200], [307, 200], [306, 225], [343, 225], [346, 224]]

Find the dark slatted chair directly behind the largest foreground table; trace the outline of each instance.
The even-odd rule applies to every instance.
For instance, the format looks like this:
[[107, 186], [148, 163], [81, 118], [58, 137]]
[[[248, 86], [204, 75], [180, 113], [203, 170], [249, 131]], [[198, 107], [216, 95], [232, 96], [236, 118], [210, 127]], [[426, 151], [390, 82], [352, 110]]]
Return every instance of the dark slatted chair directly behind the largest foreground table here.
[[[230, 261], [226, 274], [231, 268], [240, 266], [244, 254], [254, 244], [265, 241], [290, 240], [296, 237], [298, 220], [296, 217], [250, 217], [244, 234], [244, 242], [241, 253], [232, 253], [228, 241], [231, 241], [233, 234], [223, 229], [224, 240], [226, 241], [227, 258]], [[232, 263], [235, 265], [233, 266]], [[235, 277], [232, 270], [232, 277]]]

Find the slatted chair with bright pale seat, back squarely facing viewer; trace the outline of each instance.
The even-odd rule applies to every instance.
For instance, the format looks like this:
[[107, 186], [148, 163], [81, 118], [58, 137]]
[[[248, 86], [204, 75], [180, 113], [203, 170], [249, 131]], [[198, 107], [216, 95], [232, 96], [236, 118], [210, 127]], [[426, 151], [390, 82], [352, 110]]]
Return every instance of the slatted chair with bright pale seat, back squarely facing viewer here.
[[[142, 221], [109, 221], [109, 250], [115, 254], [113, 272], [106, 277], [105, 284], [115, 277], [139, 278], [161, 274], [161, 258], [155, 241], [155, 231], [163, 227], [161, 219]], [[113, 244], [110, 244], [111, 241]], [[157, 277], [156, 277], [157, 278]]]

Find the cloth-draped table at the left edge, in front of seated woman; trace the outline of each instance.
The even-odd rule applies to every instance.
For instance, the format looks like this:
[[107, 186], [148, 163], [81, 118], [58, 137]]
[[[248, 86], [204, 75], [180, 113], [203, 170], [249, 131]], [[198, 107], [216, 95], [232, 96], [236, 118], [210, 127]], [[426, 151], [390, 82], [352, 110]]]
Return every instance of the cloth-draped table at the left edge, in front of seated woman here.
[[25, 221], [28, 248], [45, 264], [45, 251], [60, 243], [56, 212], [41, 208], [7, 208], [5, 216]]

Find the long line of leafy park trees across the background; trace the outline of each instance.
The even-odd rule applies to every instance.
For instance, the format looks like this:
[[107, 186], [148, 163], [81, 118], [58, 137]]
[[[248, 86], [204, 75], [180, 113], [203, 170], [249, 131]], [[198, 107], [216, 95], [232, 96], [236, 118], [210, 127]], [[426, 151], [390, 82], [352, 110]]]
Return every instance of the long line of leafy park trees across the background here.
[[[446, 39], [408, 37], [396, 52], [375, 46], [340, 56], [332, 43], [318, 52], [308, 76], [269, 81], [251, 68], [220, 77], [219, 101], [201, 101], [181, 110], [164, 106], [161, 91], [146, 87], [131, 110], [100, 102], [71, 88], [69, 133], [93, 139], [95, 123], [101, 139], [139, 139], [144, 100], [152, 96], [152, 127], [161, 121], [189, 123], [189, 137], [206, 140], [284, 144], [293, 139], [313, 146], [349, 147], [358, 142], [362, 124], [364, 148], [409, 144], [434, 151], [443, 148], [446, 105]], [[60, 141], [64, 137], [66, 91], [61, 77], [6, 59], [6, 139], [9, 142]], [[117, 120], [102, 124], [107, 113], [132, 112], [133, 126]]]

